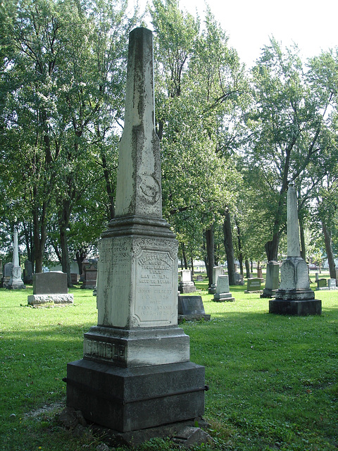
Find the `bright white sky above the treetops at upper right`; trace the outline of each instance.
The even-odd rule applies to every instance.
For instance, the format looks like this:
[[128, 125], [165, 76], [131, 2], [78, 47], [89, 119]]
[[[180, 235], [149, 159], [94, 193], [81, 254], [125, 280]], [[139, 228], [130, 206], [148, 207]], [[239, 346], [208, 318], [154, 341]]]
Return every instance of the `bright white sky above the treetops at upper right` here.
[[[230, 46], [249, 67], [271, 36], [283, 47], [298, 44], [304, 61], [338, 46], [337, 0], [208, 0], [207, 4], [230, 37]], [[142, 10], [145, 5], [146, 0], [139, 0]], [[180, 9], [194, 16], [197, 10], [203, 19], [206, 2], [180, 0]]]

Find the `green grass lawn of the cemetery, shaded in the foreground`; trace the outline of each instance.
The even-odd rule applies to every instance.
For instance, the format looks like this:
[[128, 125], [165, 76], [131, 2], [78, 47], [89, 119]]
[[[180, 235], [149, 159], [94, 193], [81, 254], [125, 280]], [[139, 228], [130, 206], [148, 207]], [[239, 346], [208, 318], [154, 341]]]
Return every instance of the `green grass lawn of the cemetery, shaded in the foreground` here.
[[[206, 368], [213, 442], [194, 449], [337, 450], [338, 291], [315, 291], [321, 316], [289, 317], [268, 314], [268, 299], [245, 286], [230, 288], [235, 302], [214, 302], [206, 279], [196, 287], [211, 321], [181, 326], [192, 362]], [[0, 289], [1, 451], [108, 450], [90, 428], [77, 433], [58, 421], [66, 365], [82, 358], [83, 334], [96, 324], [92, 290], [70, 292], [73, 305], [32, 308], [32, 288]], [[137, 447], [175, 449], [160, 439]]]

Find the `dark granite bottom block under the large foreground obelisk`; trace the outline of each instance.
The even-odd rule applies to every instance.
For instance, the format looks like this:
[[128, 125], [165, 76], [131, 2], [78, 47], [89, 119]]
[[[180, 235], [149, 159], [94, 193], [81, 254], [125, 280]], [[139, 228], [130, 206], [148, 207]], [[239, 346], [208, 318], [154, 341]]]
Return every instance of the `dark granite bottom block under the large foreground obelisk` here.
[[115, 431], [138, 431], [204, 414], [204, 366], [119, 368], [85, 359], [67, 365], [67, 406]]

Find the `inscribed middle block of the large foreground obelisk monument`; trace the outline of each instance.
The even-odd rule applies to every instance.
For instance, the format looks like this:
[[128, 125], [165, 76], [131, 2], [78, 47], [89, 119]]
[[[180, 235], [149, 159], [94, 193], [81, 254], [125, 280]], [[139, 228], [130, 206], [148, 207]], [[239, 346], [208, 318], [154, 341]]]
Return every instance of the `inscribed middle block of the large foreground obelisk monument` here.
[[177, 248], [173, 238], [102, 238], [98, 324], [115, 328], [177, 325]]

